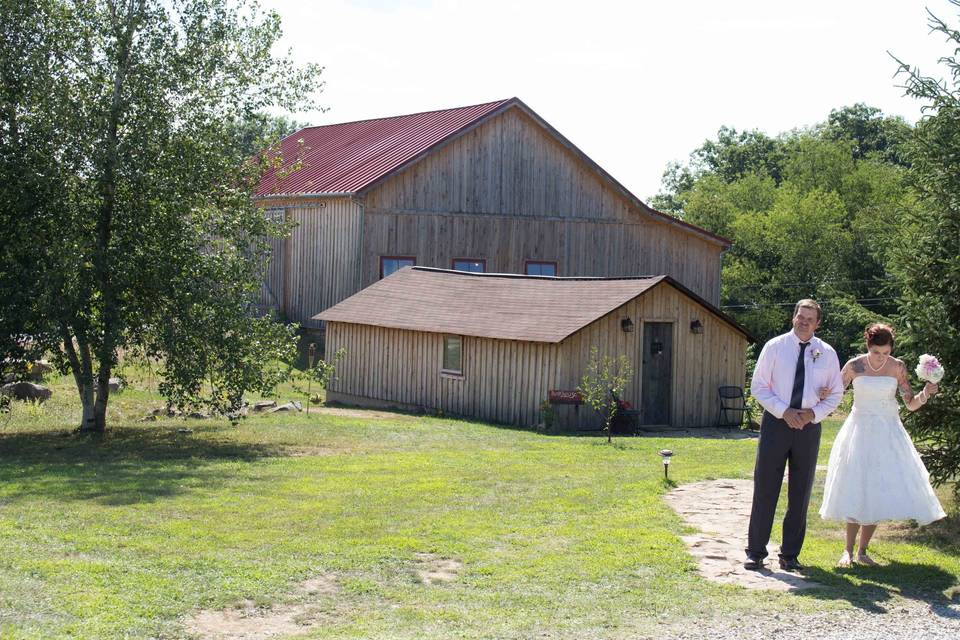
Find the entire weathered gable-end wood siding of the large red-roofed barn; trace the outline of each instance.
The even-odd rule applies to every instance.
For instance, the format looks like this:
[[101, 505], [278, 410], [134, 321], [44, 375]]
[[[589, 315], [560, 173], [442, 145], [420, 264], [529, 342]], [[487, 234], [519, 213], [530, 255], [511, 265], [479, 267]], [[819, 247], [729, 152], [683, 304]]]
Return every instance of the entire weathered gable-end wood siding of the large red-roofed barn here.
[[510, 109], [364, 195], [363, 286], [383, 255], [449, 269], [483, 258], [523, 273], [670, 275], [720, 302], [721, 247], [638, 208], [520, 109]]

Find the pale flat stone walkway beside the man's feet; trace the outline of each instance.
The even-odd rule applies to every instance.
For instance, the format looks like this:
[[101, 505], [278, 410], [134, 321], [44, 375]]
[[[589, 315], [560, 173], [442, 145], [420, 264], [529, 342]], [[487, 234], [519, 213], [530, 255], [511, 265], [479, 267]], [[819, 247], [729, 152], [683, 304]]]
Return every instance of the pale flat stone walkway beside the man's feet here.
[[699, 529], [696, 534], [683, 536], [683, 541], [697, 559], [700, 574], [748, 589], [791, 591], [818, 586], [798, 574], [780, 570], [775, 545], [767, 547], [767, 570], [743, 568], [752, 500], [753, 480], [709, 480], [677, 487], [667, 494], [667, 504], [687, 524]]

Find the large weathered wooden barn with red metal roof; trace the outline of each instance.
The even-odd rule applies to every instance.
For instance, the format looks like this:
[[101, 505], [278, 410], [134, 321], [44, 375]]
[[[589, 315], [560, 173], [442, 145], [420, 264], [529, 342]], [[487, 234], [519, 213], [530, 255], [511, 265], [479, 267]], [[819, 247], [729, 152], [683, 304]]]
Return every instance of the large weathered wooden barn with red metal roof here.
[[641, 202], [517, 98], [303, 129], [257, 202], [294, 226], [260, 304], [316, 314], [405, 266], [663, 274], [716, 306], [729, 241]]

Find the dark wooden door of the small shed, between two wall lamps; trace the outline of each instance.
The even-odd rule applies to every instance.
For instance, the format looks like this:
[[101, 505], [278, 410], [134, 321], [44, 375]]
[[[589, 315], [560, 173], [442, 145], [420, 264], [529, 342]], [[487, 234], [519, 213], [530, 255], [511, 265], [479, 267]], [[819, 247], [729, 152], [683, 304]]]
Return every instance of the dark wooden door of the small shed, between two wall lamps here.
[[673, 323], [643, 323], [643, 379], [640, 421], [647, 425], [670, 424], [673, 397]]

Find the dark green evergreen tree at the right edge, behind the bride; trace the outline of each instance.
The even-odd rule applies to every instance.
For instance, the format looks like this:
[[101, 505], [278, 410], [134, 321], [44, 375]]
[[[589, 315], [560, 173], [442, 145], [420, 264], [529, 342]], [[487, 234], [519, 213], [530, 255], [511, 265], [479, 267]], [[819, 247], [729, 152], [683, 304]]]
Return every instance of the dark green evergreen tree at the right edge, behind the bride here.
[[951, 83], [901, 63], [907, 93], [924, 101], [926, 115], [907, 147], [920, 206], [906, 216], [890, 268], [902, 281], [896, 321], [910, 368], [932, 353], [946, 370], [941, 393], [906, 420], [931, 477], [943, 483], [960, 474], [960, 32], [932, 14], [930, 26], [953, 47], [940, 59]]

